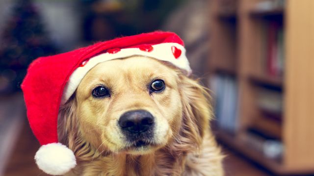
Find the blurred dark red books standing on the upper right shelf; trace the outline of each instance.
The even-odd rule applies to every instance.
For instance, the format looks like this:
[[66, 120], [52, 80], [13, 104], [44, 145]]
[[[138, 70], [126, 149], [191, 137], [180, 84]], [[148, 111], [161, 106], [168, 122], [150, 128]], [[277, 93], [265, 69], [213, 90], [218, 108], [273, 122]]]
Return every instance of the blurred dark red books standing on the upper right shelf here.
[[262, 62], [267, 75], [280, 77], [284, 73], [285, 31], [281, 22], [265, 22], [262, 26]]

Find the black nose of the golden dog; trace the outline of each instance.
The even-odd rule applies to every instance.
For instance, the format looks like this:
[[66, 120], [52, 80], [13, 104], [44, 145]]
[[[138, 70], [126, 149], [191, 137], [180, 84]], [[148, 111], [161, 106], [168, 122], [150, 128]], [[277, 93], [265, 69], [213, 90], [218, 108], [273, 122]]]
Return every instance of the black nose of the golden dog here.
[[153, 127], [154, 117], [145, 110], [128, 111], [120, 117], [119, 125], [130, 133], [145, 132]]

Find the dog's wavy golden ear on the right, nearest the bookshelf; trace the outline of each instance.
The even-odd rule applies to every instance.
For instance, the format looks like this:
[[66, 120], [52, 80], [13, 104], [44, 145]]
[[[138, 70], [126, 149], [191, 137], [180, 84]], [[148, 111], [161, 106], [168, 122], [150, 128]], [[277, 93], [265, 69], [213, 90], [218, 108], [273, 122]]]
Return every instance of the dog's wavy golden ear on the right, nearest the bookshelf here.
[[176, 138], [175, 148], [183, 151], [199, 149], [212, 115], [207, 88], [185, 75], [179, 75], [179, 91], [183, 106], [181, 129]]

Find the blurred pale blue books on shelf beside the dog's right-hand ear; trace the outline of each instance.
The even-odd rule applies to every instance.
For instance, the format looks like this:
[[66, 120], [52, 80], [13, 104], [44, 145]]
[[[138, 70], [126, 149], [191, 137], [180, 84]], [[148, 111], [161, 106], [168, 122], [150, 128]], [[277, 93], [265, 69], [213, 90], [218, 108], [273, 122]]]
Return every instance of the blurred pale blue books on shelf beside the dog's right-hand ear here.
[[237, 128], [237, 81], [233, 76], [217, 74], [210, 79], [214, 95], [214, 113], [217, 125], [234, 133]]

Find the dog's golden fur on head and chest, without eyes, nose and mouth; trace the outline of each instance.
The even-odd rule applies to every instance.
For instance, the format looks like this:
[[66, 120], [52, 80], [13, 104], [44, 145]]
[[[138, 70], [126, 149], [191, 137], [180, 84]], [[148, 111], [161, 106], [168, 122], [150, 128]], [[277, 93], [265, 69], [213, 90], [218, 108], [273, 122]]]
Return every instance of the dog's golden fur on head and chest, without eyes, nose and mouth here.
[[[157, 78], [166, 88], [149, 94], [147, 84]], [[110, 98], [93, 98], [100, 84], [111, 90]], [[222, 155], [209, 130], [208, 98], [196, 80], [153, 58], [98, 64], [59, 111], [59, 140], [78, 162], [66, 176], [222, 176]], [[117, 121], [135, 109], [155, 117], [156, 145], [135, 150], [125, 141]]]

